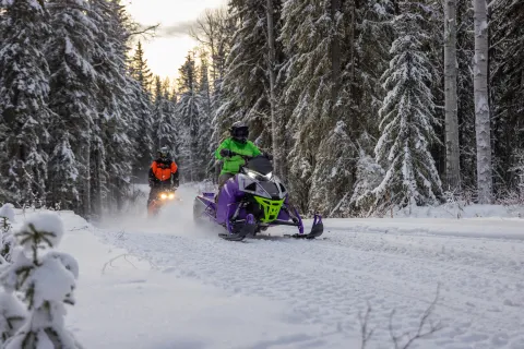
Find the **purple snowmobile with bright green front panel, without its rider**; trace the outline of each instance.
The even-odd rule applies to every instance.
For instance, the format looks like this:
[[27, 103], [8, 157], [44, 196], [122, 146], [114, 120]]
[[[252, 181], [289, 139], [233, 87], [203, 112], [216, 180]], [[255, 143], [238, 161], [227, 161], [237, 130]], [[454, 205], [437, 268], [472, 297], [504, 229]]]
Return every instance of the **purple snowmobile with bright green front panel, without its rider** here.
[[274, 226], [291, 226], [298, 233], [287, 238], [314, 239], [324, 231], [322, 217], [314, 215], [311, 232], [303, 232], [298, 210], [288, 203], [288, 193], [274, 176], [271, 160], [263, 155], [243, 157], [246, 165], [238, 174], [228, 180], [215, 203], [215, 193], [204, 192], [193, 204], [196, 222], [211, 220], [223, 226], [227, 232], [218, 236], [229, 241], [242, 241]]

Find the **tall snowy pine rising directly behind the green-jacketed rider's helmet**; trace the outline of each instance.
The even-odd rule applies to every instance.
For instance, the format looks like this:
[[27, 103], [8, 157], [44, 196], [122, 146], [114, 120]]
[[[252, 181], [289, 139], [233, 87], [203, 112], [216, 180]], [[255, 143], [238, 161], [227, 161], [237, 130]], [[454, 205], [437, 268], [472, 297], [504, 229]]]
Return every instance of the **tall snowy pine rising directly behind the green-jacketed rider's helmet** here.
[[[282, 5], [281, 1], [276, 0], [273, 4], [276, 25]], [[248, 122], [250, 139], [260, 147], [270, 148], [272, 129], [265, 58], [269, 51], [265, 2], [233, 0], [229, 2], [229, 13], [230, 20], [238, 26], [231, 39], [231, 50], [227, 57], [221, 87], [224, 103], [217, 110], [218, 123], [224, 136], [233, 122]], [[276, 56], [278, 57], [278, 53]]]

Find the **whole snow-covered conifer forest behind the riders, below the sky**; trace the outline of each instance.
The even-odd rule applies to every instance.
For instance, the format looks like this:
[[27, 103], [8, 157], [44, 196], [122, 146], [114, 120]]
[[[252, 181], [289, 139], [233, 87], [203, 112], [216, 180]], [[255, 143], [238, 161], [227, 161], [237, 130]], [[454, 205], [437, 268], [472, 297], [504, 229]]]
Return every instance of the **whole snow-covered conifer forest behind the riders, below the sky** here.
[[118, 0], [0, 3], [0, 202], [118, 212], [162, 145], [214, 181], [239, 120], [306, 215], [523, 201], [523, 1], [230, 0], [177, 81]]

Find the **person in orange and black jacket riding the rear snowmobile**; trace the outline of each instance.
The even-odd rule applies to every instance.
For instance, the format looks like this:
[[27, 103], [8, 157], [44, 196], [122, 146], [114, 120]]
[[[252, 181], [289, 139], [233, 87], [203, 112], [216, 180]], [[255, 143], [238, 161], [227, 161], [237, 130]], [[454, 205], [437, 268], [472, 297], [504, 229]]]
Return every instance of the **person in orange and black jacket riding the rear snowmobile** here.
[[151, 201], [162, 190], [174, 190], [179, 185], [178, 166], [169, 157], [169, 149], [162, 147], [158, 151], [158, 158], [153, 161], [150, 168], [150, 198], [147, 200], [147, 206]]

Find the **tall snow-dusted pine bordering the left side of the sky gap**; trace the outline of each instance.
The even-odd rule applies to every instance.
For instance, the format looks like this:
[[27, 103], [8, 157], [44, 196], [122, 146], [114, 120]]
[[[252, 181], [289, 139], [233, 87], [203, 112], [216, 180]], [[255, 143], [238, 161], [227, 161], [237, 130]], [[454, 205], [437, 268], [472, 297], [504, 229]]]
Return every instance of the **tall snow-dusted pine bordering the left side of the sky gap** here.
[[[151, 120], [151, 96], [147, 94], [144, 113], [136, 112], [135, 103], [141, 106], [143, 99], [142, 88], [138, 89], [138, 82], [130, 76], [127, 65], [128, 43], [132, 24], [123, 4], [119, 1], [109, 2], [109, 19], [111, 26], [108, 28], [109, 47], [108, 51], [114, 57], [108, 63], [112, 63], [114, 84], [119, 89], [112, 89], [111, 113], [104, 118], [104, 144], [105, 144], [105, 168], [109, 172], [107, 177], [107, 205], [106, 212], [120, 212], [124, 205], [133, 176], [133, 163], [131, 158], [138, 158], [139, 164], [151, 163], [151, 153], [146, 152], [152, 147], [152, 120]], [[139, 95], [136, 98], [135, 93]], [[139, 109], [140, 110], [140, 109]], [[146, 122], [147, 129], [143, 128]], [[146, 133], [148, 143], [146, 148], [140, 148], [136, 135]], [[136, 156], [139, 155], [139, 156]], [[148, 157], [146, 157], [148, 156]], [[115, 174], [118, 173], [118, 174]]]

